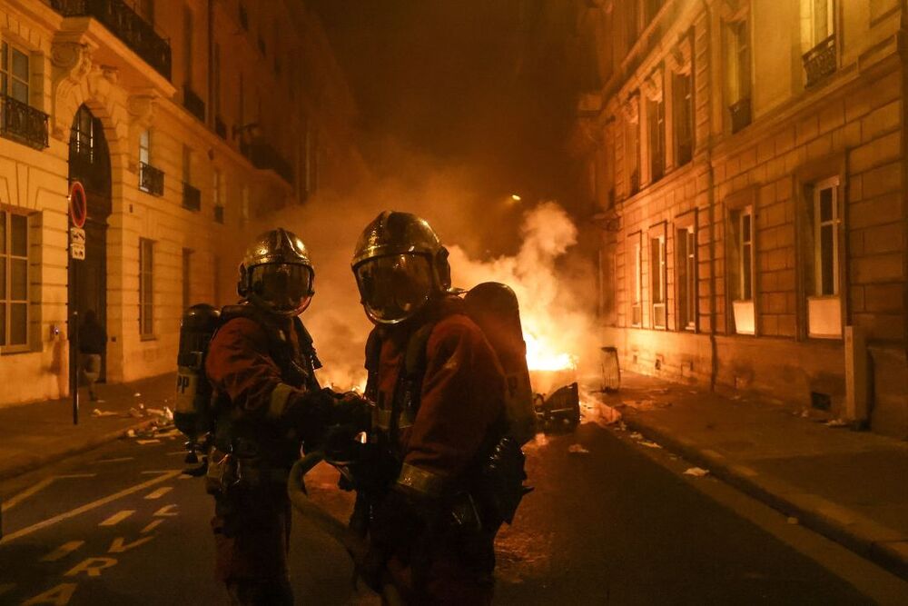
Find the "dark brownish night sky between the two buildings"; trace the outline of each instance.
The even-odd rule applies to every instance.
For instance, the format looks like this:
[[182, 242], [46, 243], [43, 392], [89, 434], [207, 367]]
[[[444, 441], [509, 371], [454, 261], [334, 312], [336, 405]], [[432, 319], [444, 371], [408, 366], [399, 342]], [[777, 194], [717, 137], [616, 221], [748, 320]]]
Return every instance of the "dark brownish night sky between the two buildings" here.
[[[363, 151], [458, 167], [489, 197], [558, 197], [570, 118], [558, 0], [309, 0], [360, 110]], [[560, 8], [559, 10], [559, 6]]]

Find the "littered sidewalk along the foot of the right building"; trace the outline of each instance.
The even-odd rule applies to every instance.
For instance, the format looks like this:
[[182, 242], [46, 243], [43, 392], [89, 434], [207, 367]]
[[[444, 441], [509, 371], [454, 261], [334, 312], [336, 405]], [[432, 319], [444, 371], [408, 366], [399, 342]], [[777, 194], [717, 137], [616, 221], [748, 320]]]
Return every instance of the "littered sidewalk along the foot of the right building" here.
[[627, 428], [908, 579], [908, 442], [622, 373]]

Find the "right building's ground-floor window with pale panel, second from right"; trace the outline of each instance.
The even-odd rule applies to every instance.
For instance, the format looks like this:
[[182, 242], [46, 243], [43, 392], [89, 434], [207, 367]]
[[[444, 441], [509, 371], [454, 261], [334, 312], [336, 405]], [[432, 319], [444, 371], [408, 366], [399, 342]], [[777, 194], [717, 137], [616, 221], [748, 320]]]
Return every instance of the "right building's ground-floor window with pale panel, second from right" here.
[[755, 334], [754, 308], [754, 207], [745, 206], [731, 214], [732, 248], [730, 284], [735, 333]]

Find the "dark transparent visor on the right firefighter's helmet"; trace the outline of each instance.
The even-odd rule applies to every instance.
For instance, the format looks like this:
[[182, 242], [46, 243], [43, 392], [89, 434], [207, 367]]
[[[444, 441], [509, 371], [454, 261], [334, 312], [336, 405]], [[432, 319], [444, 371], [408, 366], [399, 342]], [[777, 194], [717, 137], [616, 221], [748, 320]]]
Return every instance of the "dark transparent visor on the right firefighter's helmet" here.
[[377, 323], [406, 320], [429, 301], [432, 267], [421, 254], [393, 254], [370, 259], [355, 269], [366, 313]]

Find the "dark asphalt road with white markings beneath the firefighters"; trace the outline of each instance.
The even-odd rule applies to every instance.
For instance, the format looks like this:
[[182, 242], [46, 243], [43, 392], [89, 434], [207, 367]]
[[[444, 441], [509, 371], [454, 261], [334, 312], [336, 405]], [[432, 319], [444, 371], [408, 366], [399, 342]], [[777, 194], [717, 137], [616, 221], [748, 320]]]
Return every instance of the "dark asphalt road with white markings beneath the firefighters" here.
[[[212, 579], [212, 503], [201, 480], [181, 475], [181, 443], [123, 440], [0, 483], [0, 604], [226, 603]], [[498, 603], [908, 598], [903, 581], [709, 476], [683, 475], [684, 461], [627, 432], [587, 422], [527, 450], [536, 491], [499, 534]], [[335, 479], [320, 467], [309, 487], [342, 516], [350, 495]], [[294, 523], [299, 603], [377, 603], [352, 588], [339, 545]]]

